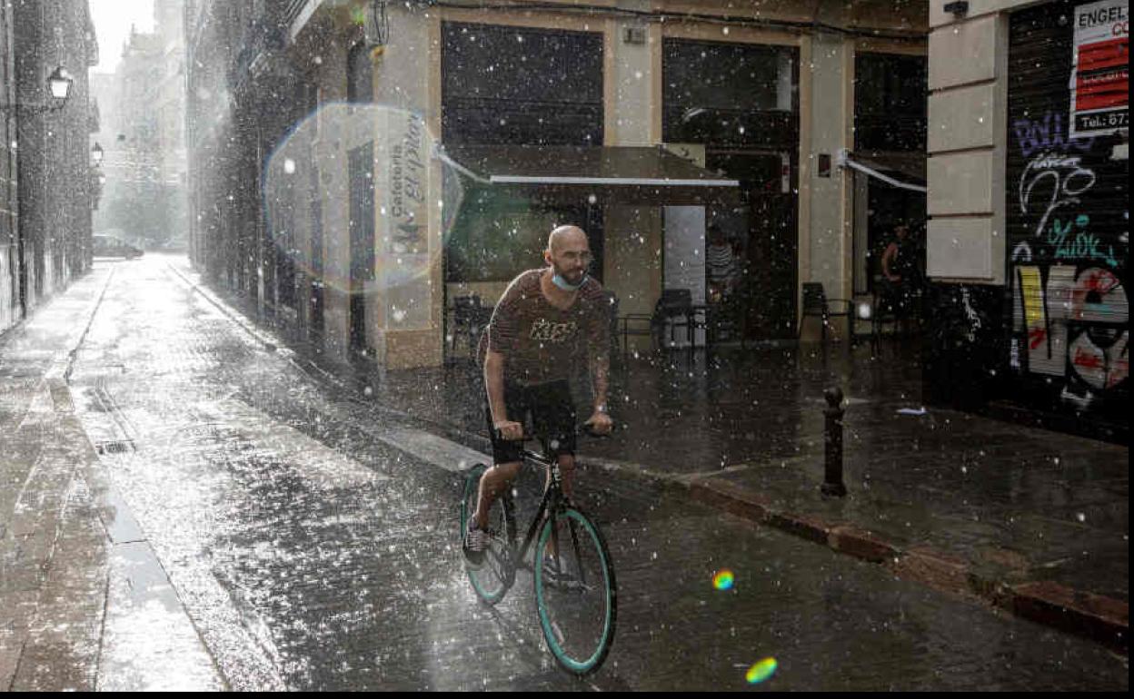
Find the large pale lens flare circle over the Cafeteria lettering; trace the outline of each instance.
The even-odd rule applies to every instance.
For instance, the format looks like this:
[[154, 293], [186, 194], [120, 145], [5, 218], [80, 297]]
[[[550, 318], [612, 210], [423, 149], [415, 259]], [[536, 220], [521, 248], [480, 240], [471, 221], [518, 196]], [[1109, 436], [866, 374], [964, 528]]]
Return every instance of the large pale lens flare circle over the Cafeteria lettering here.
[[[261, 196], [279, 279], [297, 296], [350, 297], [367, 327], [433, 326], [442, 255], [465, 185], [424, 114], [331, 102], [269, 155]], [[331, 298], [328, 297], [328, 298]]]

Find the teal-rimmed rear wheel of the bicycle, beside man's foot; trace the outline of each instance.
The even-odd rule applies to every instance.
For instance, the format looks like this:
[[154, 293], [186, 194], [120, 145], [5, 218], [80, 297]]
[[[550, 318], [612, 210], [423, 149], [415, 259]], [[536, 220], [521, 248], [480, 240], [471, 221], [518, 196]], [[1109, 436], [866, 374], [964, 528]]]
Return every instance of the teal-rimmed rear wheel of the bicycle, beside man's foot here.
[[[469, 469], [465, 477], [465, 492], [460, 498], [462, 540], [468, 528], [468, 520], [476, 512], [481, 476], [486, 470], [486, 466], [479, 463]], [[503, 598], [516, 579], [516, 566], [513, 562], [513, 553], [516, 549], [516, 518], [511, 497], [507, 494], [501, 494], [492, 503], [488, 531], [492, 542], [484, 552], [484, 564], [473, 568], [466, 562], [465, 571], [476, 595], [488, 604], [496, 604]]]

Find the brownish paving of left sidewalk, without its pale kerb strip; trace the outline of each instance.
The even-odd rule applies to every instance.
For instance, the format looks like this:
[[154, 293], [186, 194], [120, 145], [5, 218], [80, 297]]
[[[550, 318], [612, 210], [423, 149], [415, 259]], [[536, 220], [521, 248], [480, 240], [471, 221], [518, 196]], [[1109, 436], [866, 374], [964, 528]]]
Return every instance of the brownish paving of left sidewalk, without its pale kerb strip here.
[[67, 373], [109, 275], [0, 338], [0, 691], [95, 688], [110, 547]]

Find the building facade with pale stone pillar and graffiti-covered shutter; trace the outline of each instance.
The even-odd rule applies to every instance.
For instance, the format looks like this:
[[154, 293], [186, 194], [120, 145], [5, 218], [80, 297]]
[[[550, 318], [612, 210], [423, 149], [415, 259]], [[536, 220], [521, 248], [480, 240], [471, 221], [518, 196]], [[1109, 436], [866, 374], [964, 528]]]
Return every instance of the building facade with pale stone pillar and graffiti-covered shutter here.
[[940, 400], [1128, 434], [1127, 12], [1126, 0], [931, 8], [941, 313], [925, 377]]

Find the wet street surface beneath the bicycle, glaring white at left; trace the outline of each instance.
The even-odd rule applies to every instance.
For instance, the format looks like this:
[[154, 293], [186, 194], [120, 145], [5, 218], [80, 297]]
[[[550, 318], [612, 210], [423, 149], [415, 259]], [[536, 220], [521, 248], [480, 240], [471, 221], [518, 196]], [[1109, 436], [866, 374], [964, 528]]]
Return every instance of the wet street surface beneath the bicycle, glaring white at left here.
[[[617, 474], [578, 486], [611, 546], [618, 628], [576, 680], [544, 647], [528, 574], [493, 608], [465, 577], [465, 447], [274, 347], [183, 258], [93, 274], [105, 291], [69, 386], [117, 513], [108, 559], [73, 563], [107, 579], [99, 689], [745, 690], [768, 657], [756, 689], [1128, 683], [1095, 642]], [[521, 521], [541, 483], [523, 477]], [[722, 569], [731, 590], [713, 588]]]

